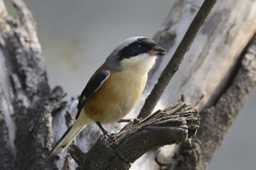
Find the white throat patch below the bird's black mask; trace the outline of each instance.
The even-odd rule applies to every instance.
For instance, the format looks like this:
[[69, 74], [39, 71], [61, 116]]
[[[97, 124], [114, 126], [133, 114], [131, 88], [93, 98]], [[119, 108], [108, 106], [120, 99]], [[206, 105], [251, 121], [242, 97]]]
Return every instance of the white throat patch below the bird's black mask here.
[[129, 59], [123, 59], [121, 65], [137, 74], [146, 74], [154, 66], [156, 56], [150, 56], [148, 53], [141, 53]]

